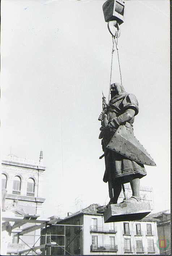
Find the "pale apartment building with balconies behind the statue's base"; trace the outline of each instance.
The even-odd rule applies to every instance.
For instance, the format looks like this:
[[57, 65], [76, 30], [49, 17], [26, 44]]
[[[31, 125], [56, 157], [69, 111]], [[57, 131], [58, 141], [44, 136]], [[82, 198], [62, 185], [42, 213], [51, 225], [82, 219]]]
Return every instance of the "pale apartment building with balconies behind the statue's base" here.
[[[47, 234], [51, 232], [53, 242], [59, 245], [51, 248], [52, 255], [63, 255], [64, 246], [66, 254], [72, 255], [159, 254], [156, 219], [145, 217], [141, 221], [104, 223], [103, 214], [96, 213], [97, 207], [98, 204], [90, 205], [77, 213], [68, 214], [68, 217], [57, 222], [62, 225], [83, 225], [83, 228], [47, 228]], [[42, 234], [45, 234], [45, 229]], [[53, 234], [59, 236], [53, 237]], [[41, 244], [43, 243], [45, 237], [42, 237]], [[42, 255], [44, 253], [45, 251], [42, 251]]]

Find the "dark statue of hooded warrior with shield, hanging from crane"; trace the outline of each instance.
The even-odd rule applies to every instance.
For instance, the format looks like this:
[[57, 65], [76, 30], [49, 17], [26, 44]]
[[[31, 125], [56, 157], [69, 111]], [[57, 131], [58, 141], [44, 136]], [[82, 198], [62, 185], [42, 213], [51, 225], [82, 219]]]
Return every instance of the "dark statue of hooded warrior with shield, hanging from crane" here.
[[[156, 165], [133, 134], [134, 117], [138, 114], [137, 98], [125, 92], [119, 83], [111, 84], [111, 100], [99, 117], [106, 170], [103, 181], [109, 185], [109, 204], [116, 204], [124, 183], [130, 182], [132, 197], [123, 202], [139, 202], [140, 179], [146, 176], [143, 165]], [[102, 157], [103, 157], [102, 156]], [[100, 157], [100, 158], [102, 158]]]

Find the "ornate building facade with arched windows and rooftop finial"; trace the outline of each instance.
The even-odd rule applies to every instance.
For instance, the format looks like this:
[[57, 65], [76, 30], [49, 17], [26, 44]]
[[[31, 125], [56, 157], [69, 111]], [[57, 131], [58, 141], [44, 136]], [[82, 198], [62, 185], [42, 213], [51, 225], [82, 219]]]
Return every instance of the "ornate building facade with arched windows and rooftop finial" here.
[[[25, 217], [26, 215], [39, 218], [42, 216], [42, 203], [45, 198], [42, 195], [43, 175], [46, 167], [43, 165], [43, 152], [40, 152], [38, 161], [29, 159], [21, 159], [15, 155], [8, 155], [1, 163], [1, 182], [3, 193], [5, 196], [3, 202], [3, 215], [8, 215], [10, 212], [16, 217]], [[15, 225], [15, 223], [13, 223]], [[24, 227], [29, 227], [33, 224], [25, 223]], [[12, 229], [10, 242], [7, 246], [7, 254], [15, 255], [21, 249], [32, 246], [35, 243], [35, 234], [39, 235], [39, 231], [30, 233], [33, 236], [25, 236], [22, 240], [18, 240], [16, 234], [22, 230], [21, 226]], [[5, 232], [4, 243], [7, 240]], [[2, 238], [3, 239], [3, 238]]]

